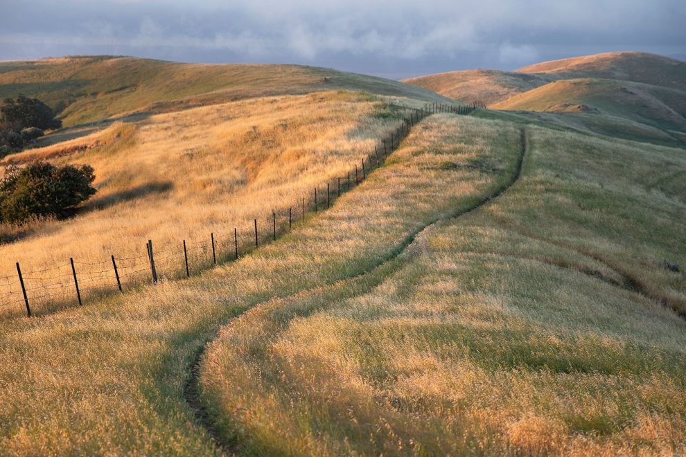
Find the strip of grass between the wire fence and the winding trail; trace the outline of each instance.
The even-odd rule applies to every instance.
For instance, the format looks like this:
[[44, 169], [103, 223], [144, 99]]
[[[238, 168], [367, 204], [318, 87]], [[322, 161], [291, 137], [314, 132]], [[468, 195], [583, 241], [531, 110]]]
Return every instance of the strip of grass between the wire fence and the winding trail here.
[[516, 127], [437, 117], [333, 208], [238, 262], [0, 322], [0, 454], [215, 454], [183, 392], [194, 355], [221, 323], [371, 271], [511, 176]]

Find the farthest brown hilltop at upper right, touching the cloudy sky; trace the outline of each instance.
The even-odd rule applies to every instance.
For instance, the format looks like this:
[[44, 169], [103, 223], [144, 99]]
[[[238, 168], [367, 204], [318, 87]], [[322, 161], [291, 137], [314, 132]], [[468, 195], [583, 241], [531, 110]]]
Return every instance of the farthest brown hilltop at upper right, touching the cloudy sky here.
[[601, 78], [686, 91], [686, 62], [649, 53], [603, 53], [525, 66], [518, 73], [552, 79]]

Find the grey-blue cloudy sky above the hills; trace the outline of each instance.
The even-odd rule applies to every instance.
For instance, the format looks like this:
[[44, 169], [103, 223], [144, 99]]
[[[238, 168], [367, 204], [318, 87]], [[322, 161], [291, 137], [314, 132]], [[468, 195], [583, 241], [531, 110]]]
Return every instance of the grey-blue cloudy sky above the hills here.
[[605, 51], [686, 60], [686, 0], [0, 0], [0, 60], [135, 55], [404, 78]]

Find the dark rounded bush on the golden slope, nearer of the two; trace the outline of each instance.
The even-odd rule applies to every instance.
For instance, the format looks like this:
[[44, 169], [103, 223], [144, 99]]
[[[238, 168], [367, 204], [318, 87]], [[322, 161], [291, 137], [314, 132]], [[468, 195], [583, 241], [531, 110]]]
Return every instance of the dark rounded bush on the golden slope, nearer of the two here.
[[39, 161], [22, 169], [10, 166], [0, 179], [0, 221], [63, 216], [96, 192], [91, 187], [94, 179], [90, 165], [56, 167]]

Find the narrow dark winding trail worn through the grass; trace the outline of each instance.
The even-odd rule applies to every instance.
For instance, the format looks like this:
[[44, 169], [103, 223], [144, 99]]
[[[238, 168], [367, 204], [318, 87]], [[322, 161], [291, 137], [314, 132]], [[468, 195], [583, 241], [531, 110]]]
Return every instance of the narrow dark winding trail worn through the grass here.
[[[437, 224], [441, 222], [449, 222], [468, 213], [472, 213], [473, 211], [481, 208], [486, 204], [489, 204], [494, 199], [500, 197], [500, 195], [502, 195], [504, 192], [506, 192], [512, 186], [514, 186], [522, 176], [522, 168], [524, 165], [525, 156], [527, 155], [527, 149], [527, 132], [526, 129], [522, 127], [520, 129], [520, 153], [517, 159], [516, 169], [511, 179], [507, 181], [507, 183], [503, 183], [501, 186], [496, 188], [493, 193], [491, 193], [490, 195], [486, 195], [486, 197], [480, 199], [479, 201], [475, 202], [475, 204], [468, 206], [467, 208], [456, 210], [454, 213], [450, 215], [435, 217], [431, 222], [428, 222], [428, 224], [416, 228], [416, 230], [408, 234], [402, 242], [397, 244], [394, 249], [389, 251], [387, 255], [384, 258], [380, 259], [379, 262], [377, 262], [375, 265], [371, 265], [367, 267], [367, 269], [364, 269], [363, 271], [360, 271], [358, 274], [355, 274], [353, 276], [349, 276], [348, 278], [342, 278], [340, 280], [336, 280], [332, 283], [324, 284], [319, 287], [304, 289], [294, 294], [290, 294], [288, 296], [270, 298], [268, 300], [261, 301], [250, 307], [250, 309], [254, 310], [256, 307], [266, 305], [267, 303], [270, 303], [273, 300], [288, 301], [296, 298], [306, 298], [307, 296], [317, 294], [330, 287], [341, 287], [343, 285], [346, 285], [346, 283], [351, 283], [354, 280], [358, 280], [363, 276], [371, 274], [373, 271], [380, 269], [381, 267], [396, 260], [403, 253], [408, 251], [408, 249], [412, 246], [416, 238], [430, 230], [432, 227], [437, 226]], [[233, 319], [236, 319], [236, 317], [234, 317]], [[231, 321], [233, 321], [233, 319], [229, 320], [229, 322], [222, 325], [222, 328], [227, 325], [231, 325]], [[198, 348], [197, 352], [195, 353], [195, 357], [191, 361], [191, 364], [188, 365], [188, 379], [184, 384], [183, 396], [188, 406], [190, 406], [191, 411], [193, 411], [195, 419], [197, 420], [198, 424], [200, 424], [204, 428], [204, 430], [209, 434], [213, 442], [217, 445], [218, 451], [220, 451], [222, 454], [235, 455], [239, 451], [238, 446], [236, 445], [236, 443], [227, 440], [227, 438], [225, 438], [225, 436], [223, 436], [222, 433], [220, 433], [220, 431], [216, 429], [215, 424], [213, 424], [211, 415], [202, 405], [202, 400], [200, 398], [200, 368], [202, 365], [202, 360], [206, 349], [218, 337], [218, 334], [219, 331], [215, 334], [214, 337], [205, 341], [200, 346], [200, 348]]]

